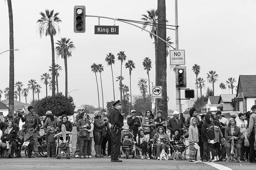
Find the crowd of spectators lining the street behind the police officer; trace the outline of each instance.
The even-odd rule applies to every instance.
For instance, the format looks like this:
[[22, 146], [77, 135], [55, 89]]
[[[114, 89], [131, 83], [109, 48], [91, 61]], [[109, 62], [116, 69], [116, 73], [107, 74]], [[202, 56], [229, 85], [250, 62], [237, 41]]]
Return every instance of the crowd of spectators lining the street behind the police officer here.
[[[74, 152], [76, 158], [92, 158], [92, 141], [97, 158], [104, 156], [110, 158], [115, 152], [112, 147], [120, 148], [121, 141], [113, 141], [113, 134], [118, 134], [119, 131], [116, 133], [112, 131], [123, 125], [118, 124], [118, 127], [114, 127], [111, 119], [116, 123], [115, 117], [111, 118], [106, 110], [97, 110], [93, 114], [94, 118], [89, 117], [85, 108], [80, 107], [76, 116], [77, 142]], [[147, 110], [144, 117], [138, 117], [136, 110], [131, 110], [127, 124], [129, 129], [133, 130], [135, 145], [140, 148], [136, 153], [137, 157], [152, 159], [154, 155], [157, 160], [161, 160], [161, 154], [168, 153], [170, 149], [171, 159], [181, 160], [185, 159], [183, 153], [189, 147], [189, 163], [198, 162], [197, 151], [202, 162], [206, 163], [230, 162], [233, 161], [232, 159], [237, 162], [256, 163], [256, 105], [253, 105], [251, 112], [240, 113], [238, 117], [230, 119], [225, 118], [220, 111], [214, 114], [212, 112], [197, 114], [194, 108], [190, 109], [187, 119], [176, 111], [173, 112], [172, 118], [168, 117], [168, 120], [164, 119], [162, 114], [161, 110], [157, 110], [157, 116], [154, 117], [152, 111]], [[55, 158], [54, 136], [62, 125], [69, 132], [73, 129], [73, 124], [66, 115], [62, 115], [59, 119], [49, 110], [45, 119], [41, 121], [40, 116], [33, 112], [32, 106], [28, 107], [28, 114], [24, 112], [18, 112], [14, 116], [9, 114], [4, 122], [0, 122], [0, 155], [3, 154], [5, 158], [16, 155], [20, 158], [20, 146], [24, 146], [28, 158], [32, 156], [37, 158], [38, 131], [43, 128], [46, 133], [47, 158]], [[185, 144], [186, 138], [189, 141], [188, 146]], [[119, 137], [116, 139], [119, 140]], [[114, 155], [119, 155], [118, 150], [116, 152]]]

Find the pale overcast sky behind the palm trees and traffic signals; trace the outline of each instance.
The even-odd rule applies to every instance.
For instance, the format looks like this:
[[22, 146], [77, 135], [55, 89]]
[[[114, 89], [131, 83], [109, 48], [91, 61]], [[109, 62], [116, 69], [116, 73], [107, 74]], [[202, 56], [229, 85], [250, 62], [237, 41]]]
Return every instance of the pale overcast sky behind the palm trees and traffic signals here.
[[[68, 37], [74, 42], [76, 49], [68, 59], [68, 92], [77, 106], [81, 104], [98, 105], [95, 74], [90, 66], [102, 63], [102, 84], [104, 106], [113, 100], [111, 68], [105, 62], [106, 54], [113, 53], [117, 57], [119, 51], [125, 51], [127, 59], [134, 61], [136, 68], [131, 73], [131, 90], [133, 95], [140, 93], [138, 78], [147, 78], [142, 66], [145, 57], [152, 60], [150, 80], [155, 85], [155, 56], [153, 39], [149, 33], [137, 27], [116, 21], [119, 35], [95, 35], [94, 26], [98, 19], [86, 17], [86, 32], [73, 32], [74, 5], [85, 5], [86, 15], [99, 15], [119, 19], [140, 20], [147, 10], [157, 8], [157, 0], [12, 0], [14, 20], [14, 52], [15, 82], [21, 81], [24, 87], [28, 80], [35, 79], [41, 84], [40, 98], [45, 97], [45, 85], [40, 76], [48, 72], [51, 65], [50, 37], [40, 39], [36, 21], [39, 12], [45, 9], [59, 12], [62, 23], [61, 32], [54, 41]], [[206, 73], [215, 70], [219, 75], [214, 85], [215, 95], [231, 93], [231, 90], [220, 90], [219, 84], [229, 77], [238, 81], [239, 75], [255, 74], [256, 53], [256, 1], [254, 0], [182, 0], [178, 1], [179, 49], [185, 50], [187, 66], [187, 87], [196, 89], [195, 74], [191, 71], [196, 63], [201, 66], [199, 77], [206, 80]], [[7, 2], [0, 2], [0, 53], [9, 49], [9, 18]], [[174, 0], [166, 0], [166, 19], [168, 24], [175, 25]], [[113, 20], [100, 19], [100, 25], [114, 25]], [[141, 26], [138, 24], [138, 26]], [[147, 27], [149, 29], [149, 27]], [[175, 31], [167, 30], [167, 36], [175, 42]], [[59, 76], [59, 91], [65, 92], [64, 60], [56, 57], [55, 63], [62, 66]], [[167, 58], [167, 93], [170, 98], [168, 109], [175, 109], [175, 74], [170, 68], [170, 57]], [[121, 63], [113, 66], [114, 77], [120, 75]], [[0, 54], [0, 89], [9, 87], [9, 52]], [[129, 85], [129, 70], [123, 66], [123, 83]], [[116, 78], [115, 78], [116, 79]], [[237, 82], [236, 82], [237, 83]], [[116, 99], [119, 98], [118, 82], [115, 82]], [[206, 88], [212, 88], [206, 81]], [[100, 87], [99, 87], [99, 90]], [[51, 93], [51, 92], [50, 92]], [[196, 91], [195, 91], [196, 93]], [[200, 94], [200, 90], [199, 90]], [[2, 95], [4, 96], [4, 95]], [[183, 96], [183, 94], [182, 94]], [[37, 95], [35, 95], [37, 99]], [[3, 99], [3, 98], [2, 98]], [[32, 100], [29, 92], [28, 102]], [[21, 97], [21, 102], [25, 102]], [[192, 102], [182, 101], [183, 109]], [[102, 98], [100, 95], [100, 106]]]

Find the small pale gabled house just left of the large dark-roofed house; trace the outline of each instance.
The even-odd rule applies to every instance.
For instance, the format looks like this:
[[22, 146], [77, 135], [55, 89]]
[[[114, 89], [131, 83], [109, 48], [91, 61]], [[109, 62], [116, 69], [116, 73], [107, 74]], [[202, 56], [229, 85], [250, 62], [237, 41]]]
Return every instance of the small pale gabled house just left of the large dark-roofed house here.
[[221, 94], [218, 101], [218, 104], [219, 104], [219, 106], [217, 107], [218, 110], [220, 111], [234, 110], [231, 105], [231, 102], [232, 102], [232, 99], [234, 99], [235, 97], [236, 97], [235, 94]]

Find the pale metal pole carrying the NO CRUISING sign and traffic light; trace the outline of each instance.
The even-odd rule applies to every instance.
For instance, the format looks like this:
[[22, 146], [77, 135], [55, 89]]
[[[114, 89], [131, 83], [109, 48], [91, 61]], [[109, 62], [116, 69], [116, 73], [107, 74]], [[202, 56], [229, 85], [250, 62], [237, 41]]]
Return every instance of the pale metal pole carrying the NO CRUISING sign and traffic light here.
[[[175, 0], [175, 49], [179, 49], [179, 37], [178, 37], [178, 0]], [[176, 110], [182, 112], [180, 89], [176, 88]]]

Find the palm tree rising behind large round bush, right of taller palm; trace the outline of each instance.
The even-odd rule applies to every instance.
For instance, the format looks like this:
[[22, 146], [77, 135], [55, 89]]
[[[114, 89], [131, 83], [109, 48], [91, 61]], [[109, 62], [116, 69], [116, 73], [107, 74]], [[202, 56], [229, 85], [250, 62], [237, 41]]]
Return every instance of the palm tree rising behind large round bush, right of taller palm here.
[[61, 56], [64, 59], [65, 65], [65, 96], [67, 97], [67, 58], [71, 57], [71, 52], [75, 49], [73, 41], [70, 38], [61, 38], [56, 42], [58, 45], [56, 47], [57, 56]]

